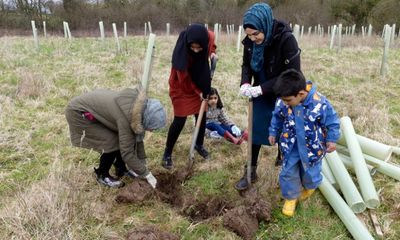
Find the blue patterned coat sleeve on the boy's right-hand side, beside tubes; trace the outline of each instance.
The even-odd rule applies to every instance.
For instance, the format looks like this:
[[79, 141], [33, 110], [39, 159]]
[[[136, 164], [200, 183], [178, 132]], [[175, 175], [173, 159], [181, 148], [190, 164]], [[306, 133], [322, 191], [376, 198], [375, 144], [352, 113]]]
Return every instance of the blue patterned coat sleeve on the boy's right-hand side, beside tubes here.
[[326, 109], [321, 118], [321, 124], [326, 129], [326, 142], [336, 143], [340, 138], [340, 121], [328, 100], [326, 100]]

